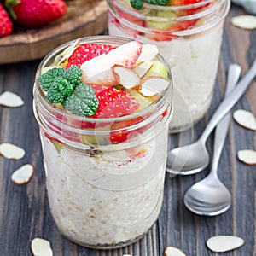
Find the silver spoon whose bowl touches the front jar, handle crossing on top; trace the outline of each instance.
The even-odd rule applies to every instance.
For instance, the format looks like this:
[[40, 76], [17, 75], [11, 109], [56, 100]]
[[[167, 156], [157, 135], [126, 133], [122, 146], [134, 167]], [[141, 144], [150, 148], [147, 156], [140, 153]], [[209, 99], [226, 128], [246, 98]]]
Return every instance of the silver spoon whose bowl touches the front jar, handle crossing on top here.
[[[235, 67], [235, 74], [230, 75], [230, 79], [237, 79], [237, 74], [240, 73], [240, 67], [233, 64]], [[248, 73], [237, 84], [236, 88], [232, 90], [223, 102], [220, 103], [216, 112], [212, 115], [205, 131], [201, 134], [200, 139], [193, 144], [183, 146], [180, 148], [174, 148], [168, 152], [166, 171], [189, 175], [196, 172], [201, 172], [209, 163], [209, 156], [206, 148], [207, 137], [212, 132], [213, 128], [218, 124], [220, 119], [224, 117], [226, 113], [236, 104], [236, 102], [247, 90], [248, 85], [256, 75], [256, 59], [253, 61], [252, 67]]]

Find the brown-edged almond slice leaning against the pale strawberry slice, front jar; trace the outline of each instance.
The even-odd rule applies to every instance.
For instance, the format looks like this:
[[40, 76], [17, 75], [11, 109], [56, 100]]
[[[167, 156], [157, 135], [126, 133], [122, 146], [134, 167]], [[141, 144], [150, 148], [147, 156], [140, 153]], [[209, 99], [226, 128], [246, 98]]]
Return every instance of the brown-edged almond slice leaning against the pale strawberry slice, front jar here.
[[140, 84], [140, 78], [137, 76], [131, 68], [114, 65], [113, 72], [117, 76], [119, 84], [122, 84], [126, 89], [138, 90]]

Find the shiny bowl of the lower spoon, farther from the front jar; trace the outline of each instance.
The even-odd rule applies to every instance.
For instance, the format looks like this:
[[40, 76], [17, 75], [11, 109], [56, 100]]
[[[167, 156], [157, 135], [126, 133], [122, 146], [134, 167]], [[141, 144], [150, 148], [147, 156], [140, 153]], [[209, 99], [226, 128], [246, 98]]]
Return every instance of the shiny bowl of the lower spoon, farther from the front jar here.
[[184, 195], [185, 206], [199, 215], [215, 216], [230, 208], [231, 195], [218, 177], [207, 176]]

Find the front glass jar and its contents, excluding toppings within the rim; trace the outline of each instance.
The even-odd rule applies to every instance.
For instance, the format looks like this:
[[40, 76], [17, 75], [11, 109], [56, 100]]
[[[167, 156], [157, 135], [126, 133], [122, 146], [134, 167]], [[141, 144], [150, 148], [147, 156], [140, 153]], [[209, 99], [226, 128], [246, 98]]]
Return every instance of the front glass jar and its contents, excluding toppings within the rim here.
[[[108, 36], [81, 39], [82, 44], [128, 41]], [[72, 44], [44, 58], [34, 85], [50, 211], [61, 234], [71, 241], [92, 248], [123, 247], [141, 238], [160, 213], [172, 113], [171, 74], [164, 95], [137, 113], [117, 119], [80, 117], [49, 104], [38, 82], [42, 68]], [[160, 55], [157, 59], [165, 62]], [[111, 143], [109, 137], [119, 131], [128, 139]]]

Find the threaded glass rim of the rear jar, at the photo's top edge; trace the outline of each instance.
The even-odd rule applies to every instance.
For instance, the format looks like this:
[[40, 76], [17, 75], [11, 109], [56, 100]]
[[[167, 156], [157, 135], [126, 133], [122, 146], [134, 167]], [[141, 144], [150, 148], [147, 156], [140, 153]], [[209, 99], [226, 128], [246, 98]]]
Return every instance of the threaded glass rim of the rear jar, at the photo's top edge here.
[[[131, 5], [125, 4], [126, 1], [122, 0], [107, 0], [108, 2], [108, 10], [116, 15], [119, 22], [123, 23], [127, 27], [131, 27], [134, 30], [139, 32], [151, 33], [154, 32], [155, 29], [150, 27], [143, 27], [138, 25], [136, 22], [132, 22], [125, 17], [119, 15], [117, 9], [120, 9], [122, 12], [131, 15], [134, 18], [143, 21], [157, 21], [157, 22], [185, 22], [187, 20], [199, 20], [204, 19], [204, 22], [200, 26], [191, 27], [188, 30], [178, 30], [178, 31], [170, 31], [169, 33], [176, 36], [186, 36], [195, 34], [197, 32], [206, 31], [207, 29], [211, 28], [212, 26], [216, 26], [219, 20], [222, 20], [228, 14], [230, 9], [230, 0], [204, 0], [199, 3], [192, 3], [183, 6], [160, 6], [154, 5], [150, 3], [144, 3], [143, 9], [137, 10], [133, 9]], [[202, 6], [208, 6], [201, 11], [196, 12], [186, 12], [189, 9], [198, 9]], [[157, 15], [145, 15], [143, 13], [144, 9], [148, 9], [149, 11], [153, 10], [151, 13], [156, 13], [158, 11], [172, 11], [174, 14], [178, 12], [178, 15], [170, 15], [170, 16], [157, 16]], [[180, 12], [179, 12], [180, 11]]]

